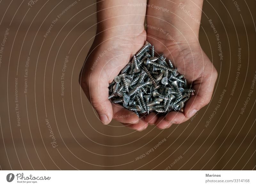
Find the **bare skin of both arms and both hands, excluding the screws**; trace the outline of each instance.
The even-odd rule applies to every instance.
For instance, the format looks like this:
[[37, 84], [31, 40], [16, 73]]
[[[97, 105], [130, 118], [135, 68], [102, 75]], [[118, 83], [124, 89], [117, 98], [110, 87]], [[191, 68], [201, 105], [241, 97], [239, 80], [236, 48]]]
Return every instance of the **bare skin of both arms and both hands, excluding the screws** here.
[[[200, 46], [200, 25], [195, 21], [201, 19], [203, 1], [172, 2], [148, 0], [148, 6], [144, 6], [146, 0], [98, 2], [97, 34], [82, 67], [79, 82], [103, 124], [115, 119], [139, 131], [146, 129], [148, 124], [156, 124], [159, 129], [169, 128], [173, 123], [187, 121], [210, 102], [217, 71]], [[166, 8], [169, 12], [161, 11], [156, 6]], [[148, 27], [145, 31], [145, 15], [147, 24], [158, 29]], [[171, 59], [178, 72], [184, 74], [196, 90], [186, 103], [184, 112], [169, 112], [161, 117], [152, 112], [138, 118], [132, 111], [108, 100], [108, 83], [113, 81], [146, 40], [155, 46], [156, 53], [163, 53], [167, 59]], [[107, 50], [113, 46], [117, 47]], [[102, 55], [104, 50], [107, 52]], [[97, 59], [97, 64], [92, 68]], [[129, 114], [129, 118], [118, 117]]]

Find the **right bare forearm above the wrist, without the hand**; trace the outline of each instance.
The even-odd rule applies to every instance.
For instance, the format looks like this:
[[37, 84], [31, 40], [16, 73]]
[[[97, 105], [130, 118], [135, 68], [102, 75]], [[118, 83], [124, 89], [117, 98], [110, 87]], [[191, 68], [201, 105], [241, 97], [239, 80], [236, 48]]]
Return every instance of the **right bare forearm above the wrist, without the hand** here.
[[[162, 27], [166, 33], [171, 34], [178, 41], [196, 41], [200, 28], [202, 6], [203, 0], [149, 0], [147, 23]], [[152, 32], [157, 31], [152, 30]]]

